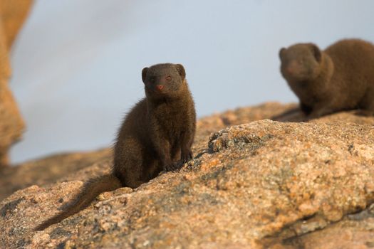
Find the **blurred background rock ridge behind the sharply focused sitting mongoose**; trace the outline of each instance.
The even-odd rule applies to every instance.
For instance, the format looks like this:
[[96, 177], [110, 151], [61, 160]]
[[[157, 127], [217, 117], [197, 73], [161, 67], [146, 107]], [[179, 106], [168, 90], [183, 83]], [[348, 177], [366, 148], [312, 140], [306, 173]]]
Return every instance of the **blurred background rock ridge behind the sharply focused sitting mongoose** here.
[[[269, 118], [288, 110], [295, 105], [281, 105], [276, 102], [255, 107], [243, 107], [229, 110], [222, 114], [204, 117], [197, 121], [195, 151], [207, 146], [209, 134], [228, 125], [241, 124]], [[222, 122], [229, 120], [231, 122]], [[110, 169], [112, 154], [110, 149], [98, 152], [58, 154], [44, 159], [33, 160], [15, 167], [0, 168], [0, 201], [19, 189], [33, 184], [46, 185], [56, 181], [83, 181], [93, 174], [100, 174]], [[110, 163], [109, 163], [110, 162]], [[109, 164], [108, 164], [109, 163]], [[91, 166], [90, 166], [91, 165]], [[95, 165], [95, 166], [92, 166]], [[87, 166], [88, 169], [85, 169]], [[83, 169], [80, 171], [80, 169]]]

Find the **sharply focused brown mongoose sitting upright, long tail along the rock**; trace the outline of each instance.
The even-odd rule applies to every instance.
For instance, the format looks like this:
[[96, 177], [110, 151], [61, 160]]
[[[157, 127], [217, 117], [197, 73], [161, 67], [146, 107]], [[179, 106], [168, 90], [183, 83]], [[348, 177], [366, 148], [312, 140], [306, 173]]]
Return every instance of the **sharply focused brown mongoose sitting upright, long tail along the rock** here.
[[146, 97], [120, 127], [112, 173], [85, 183], [61, 213], [41, 223], [36, 231], [78, 213], [104, 191], [136, 188], [160, 171], [178, 169], [192, 159], [196, 114], [185, 75], [180, 64], [157, 64], [142, 70]]

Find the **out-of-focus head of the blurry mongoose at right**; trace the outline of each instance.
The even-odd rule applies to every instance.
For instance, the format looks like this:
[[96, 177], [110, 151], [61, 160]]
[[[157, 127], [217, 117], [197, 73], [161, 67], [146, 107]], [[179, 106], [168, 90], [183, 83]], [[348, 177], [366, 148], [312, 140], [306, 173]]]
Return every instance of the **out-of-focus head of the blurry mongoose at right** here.
[[281, 74], [290, 82], [313, 80], [321, 71], [322, 53], [313, 43], [281, 48]]

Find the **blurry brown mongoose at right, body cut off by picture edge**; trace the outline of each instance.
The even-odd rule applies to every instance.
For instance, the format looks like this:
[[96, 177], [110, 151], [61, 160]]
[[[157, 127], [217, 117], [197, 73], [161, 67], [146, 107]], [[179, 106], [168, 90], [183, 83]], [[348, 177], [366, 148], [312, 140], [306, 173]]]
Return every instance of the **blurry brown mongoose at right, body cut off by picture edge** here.
[[281, 48], [281, 74], [300, 100], [307, 119], [360, 108], [374, 112], [374, 46], [359, 39]]

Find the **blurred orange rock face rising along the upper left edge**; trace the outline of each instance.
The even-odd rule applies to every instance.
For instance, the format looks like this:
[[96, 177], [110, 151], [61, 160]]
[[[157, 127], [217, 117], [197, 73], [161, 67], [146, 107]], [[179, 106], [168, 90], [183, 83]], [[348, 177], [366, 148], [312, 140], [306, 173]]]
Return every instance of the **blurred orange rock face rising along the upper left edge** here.
[[21, 138], [24, 130], [24, 120], [8, 85], [9, 53], [31, 4], [29, 0], [0, 2], [0, 167], [9, 164], [9, 147]]

